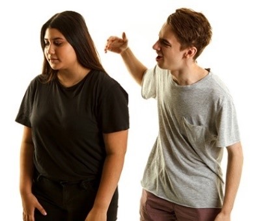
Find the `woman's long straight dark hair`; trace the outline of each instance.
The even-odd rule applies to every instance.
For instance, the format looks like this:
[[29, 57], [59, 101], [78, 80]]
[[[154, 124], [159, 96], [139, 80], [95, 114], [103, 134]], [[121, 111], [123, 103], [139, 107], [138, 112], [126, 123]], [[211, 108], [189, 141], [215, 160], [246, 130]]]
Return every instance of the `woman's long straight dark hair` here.
[[[85, 68], [99, 70], [106, 73], [100, 62], [98, 51], [96, 50], [94, 42], [87, 29], [85, 19], [81, 14], [74, 11], [64, 11], [55, 14], [46, 21], [42, 26], [40, 34], [43, 51], [46, 46], [44, 42], [44, 35], [48, 28], [57, 29], [61, 34], [63, 34], [68, 43], [74, 48], [79, 64]], [[53, 70], [51, 68], [48, 60], [44, 56], [41, 75], [42, 79], [44, 79], [45, 82], [49, 82], [56, 77], [57, 72], [58, 70]]]

